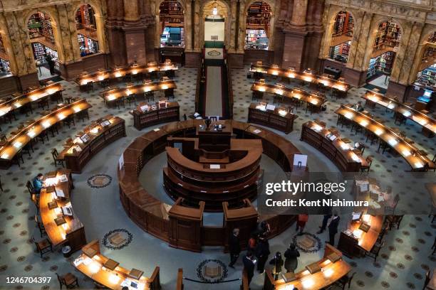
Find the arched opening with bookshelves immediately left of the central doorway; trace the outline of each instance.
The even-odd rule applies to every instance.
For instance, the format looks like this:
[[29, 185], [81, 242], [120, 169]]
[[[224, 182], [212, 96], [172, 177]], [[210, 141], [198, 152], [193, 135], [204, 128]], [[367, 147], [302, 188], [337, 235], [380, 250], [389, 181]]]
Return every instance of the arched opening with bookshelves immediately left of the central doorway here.
[[177, 0], [164, 0], [159, 6], [160, 47], [185, 47], [183, 6]]

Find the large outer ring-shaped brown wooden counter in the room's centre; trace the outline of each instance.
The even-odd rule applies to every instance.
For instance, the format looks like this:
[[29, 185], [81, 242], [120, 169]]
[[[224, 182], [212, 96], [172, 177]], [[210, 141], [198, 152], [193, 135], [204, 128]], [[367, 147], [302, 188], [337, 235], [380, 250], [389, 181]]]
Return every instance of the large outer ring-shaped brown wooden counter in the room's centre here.
[[[249, 123], [227, 120], [224, 124], [232, 128], [232, 134], [236, 140], [259, 140], [263, 154], [276, 161], [284, 172], [292, 171], [294, 154], [300, 154], [300, 151], [289, 140], [268, 129], [256, 127]], [[269, 237], [279, 235], [291, 226], [296, 220], [294, 215], [259, 216], [257, 210], [250, 203], [249, 195], [239, 197], [238, 206], [232, 205], [232, 202], [229, 203], [227, 200], [222, 201], [223, 225], [219, 227], [204, 226], [202, 224], [204, 200], [199, 201], [197, 205], [185, 205], [183, 196], [175, 196], [175, 199], [177, 198], [175, 204], [168, 205], [150, 195], [147, 189], [142, 187], [138, 176], [145, 164], [154, 156], [164, 152], [171, 139], [195, 137], [200, 125], [204, 125], [204, 120], [173, 122], [137, 137], [125, 149], [118, 164], [118, 183], [120, 200], [130, 219], [145, 232], [168, 242], [171, 247], [195, 252], [201, 252], [202, 246], [222, 246], [224, 250], [227, 250], [229, 235], [232, 235], [232, 230], [235, 227], [240, 230], [239, 237], [242, 248], [246, 247], [258, 220], [269, 222], [271, 227]], [[253, 144], [255, 143], [253, 142]], [[259, 154], [260, 160], [260, 152], [253, 150], [251, 154], [254, 155], [249, 156], [249, 158], [255, 160], [254, 162], [246, 163], [243, 157], [234, 162], [232, 166], [239, 169], [251, 168], [249, 171], [252, 172], [253, 166], [258, 166], [258, 159], [255, 156]], [[171, 159], [180, 158], [177, 152], [172, 152], [170, 155], [170, 163]], [[177, 164], [180, 163], [183, 162], [177, 162]], [[186, 166], [185, 163], [183, 164]]]

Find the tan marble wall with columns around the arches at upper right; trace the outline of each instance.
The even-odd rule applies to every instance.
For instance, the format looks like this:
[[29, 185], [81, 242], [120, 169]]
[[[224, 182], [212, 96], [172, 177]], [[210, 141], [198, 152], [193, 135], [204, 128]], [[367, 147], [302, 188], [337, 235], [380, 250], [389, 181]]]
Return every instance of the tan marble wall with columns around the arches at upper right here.
[[[355, 27], [351, 42], [346, 80], [353, 85], [365, 82], [366, 70], [373, 52], [375, 33], [380, 23], [394, 21], [401, 28], [398, 47], [390, 82], [392, 87], [411, 85], [416, 80], [417, 70], [424, 53], [425, 41], [432, 31], [436, 31], [436, 1], [378, 1], [378, 0], [326, 0], [323, 23], [324, 33], [319, 58], [328, 58], [331, 31], [338, 11], [348, 11], [353, 15]], [[425, 37], [427, 36], [427, 38]], [[358, 76], [358, 77], [356, 77]], [[348, 77], [348, 79], [347, 79]], [[388, 88], [388, 92], [389, 92]], [[395, 94], [398, 90], [395, 90]], [[401, 96], [400, 96], [401, 97]]]

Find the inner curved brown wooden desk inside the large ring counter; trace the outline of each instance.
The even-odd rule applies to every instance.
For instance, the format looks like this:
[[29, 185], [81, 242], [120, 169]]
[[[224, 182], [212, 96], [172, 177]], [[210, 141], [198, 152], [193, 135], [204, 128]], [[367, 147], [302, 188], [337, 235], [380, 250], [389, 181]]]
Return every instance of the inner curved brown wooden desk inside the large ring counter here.
[[[224, 201], [238, 207], [244, 198], [252, 200], [256, 197], [257, 181], [261, 176], [260, 140], [231, 139], [229, 150], [207, 152], [214, 159], [198, 156], [204, 153], [198, 148], [198, 139], [171, 138], [169, 141], [183, 144], [184, 152], [166, 147], [168, 167], [163, 170], [164, 186], [172, 198], [184, 198], [184, 205], [204, 201], [207, 211], [222, 211]], [[197, 160], [185, 156], [185, 151], [188, 151], [185, 144], [188, 148], [195, 144], [193, 154], [189, 155]]]

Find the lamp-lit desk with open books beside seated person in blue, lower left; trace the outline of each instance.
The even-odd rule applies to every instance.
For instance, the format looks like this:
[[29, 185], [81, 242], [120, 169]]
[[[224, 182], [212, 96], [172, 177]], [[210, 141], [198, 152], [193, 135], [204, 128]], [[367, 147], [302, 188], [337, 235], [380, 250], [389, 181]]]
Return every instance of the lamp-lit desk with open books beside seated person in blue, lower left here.
[[59, 169], [48, 173], [44, 186], [39, 195], [39, 210], [48, 239], [53, 246], [66, 244], [71, 252], [76, 252], [86, 244], [86, 238], [85, 228], [71, 206], [71, 171]]

